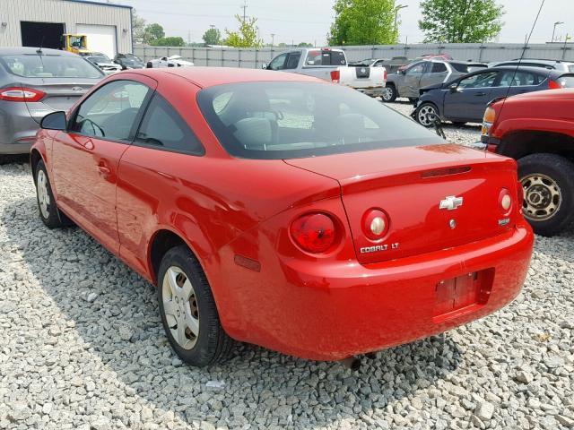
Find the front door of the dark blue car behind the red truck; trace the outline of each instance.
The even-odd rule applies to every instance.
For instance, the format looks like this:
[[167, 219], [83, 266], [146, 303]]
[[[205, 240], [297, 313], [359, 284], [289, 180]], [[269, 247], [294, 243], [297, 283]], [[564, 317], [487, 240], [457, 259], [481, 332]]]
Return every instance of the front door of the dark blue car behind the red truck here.
[[445, 119], [481, 122], [484, 109], [491, 101], [491, 90], [498, 71], [472, 73], [459, 81], [445, 94], [443, 116]]

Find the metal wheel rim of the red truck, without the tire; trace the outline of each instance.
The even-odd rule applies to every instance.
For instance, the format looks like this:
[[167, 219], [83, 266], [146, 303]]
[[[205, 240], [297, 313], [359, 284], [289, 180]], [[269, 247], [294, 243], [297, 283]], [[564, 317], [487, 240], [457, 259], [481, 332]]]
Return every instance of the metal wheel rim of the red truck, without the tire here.
[[520, 183], [524, 189], [522, 207], [527, 219], [544, 221], [558, 212], [562, 195], [560, 186], [552, 177], [535, 173], [523, 177]]

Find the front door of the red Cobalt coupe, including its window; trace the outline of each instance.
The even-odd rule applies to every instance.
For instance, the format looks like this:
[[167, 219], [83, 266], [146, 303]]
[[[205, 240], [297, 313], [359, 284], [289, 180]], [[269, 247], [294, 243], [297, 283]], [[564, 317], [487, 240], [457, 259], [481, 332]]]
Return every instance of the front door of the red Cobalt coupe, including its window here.
[[117, 166], [133, 141], [155, 82], [111, 81], [93, 91], [54, 139], [52, 159], [58, 204], [102, 245], [117, 254]]

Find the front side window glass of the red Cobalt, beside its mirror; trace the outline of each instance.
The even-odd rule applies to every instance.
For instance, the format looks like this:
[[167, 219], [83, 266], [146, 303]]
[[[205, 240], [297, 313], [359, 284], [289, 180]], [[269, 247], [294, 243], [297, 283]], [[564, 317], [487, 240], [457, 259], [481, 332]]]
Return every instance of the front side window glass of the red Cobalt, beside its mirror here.
[[112, 141], [132, 141], [132, 129], [150, 89], [140, 82], [113, 81], [85, 99], [70, 131]]

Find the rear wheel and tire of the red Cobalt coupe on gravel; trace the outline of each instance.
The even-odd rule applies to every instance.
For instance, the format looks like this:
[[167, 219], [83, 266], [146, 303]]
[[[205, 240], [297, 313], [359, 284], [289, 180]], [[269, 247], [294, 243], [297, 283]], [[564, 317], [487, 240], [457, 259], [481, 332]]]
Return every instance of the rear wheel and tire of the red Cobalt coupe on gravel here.
[[212, 289], [187, 246], [171, 248], [161, 260], [158, 302], [171, 348], [183, 362], [202, 367], [230, 357], [235, 340], [223, 330]]

